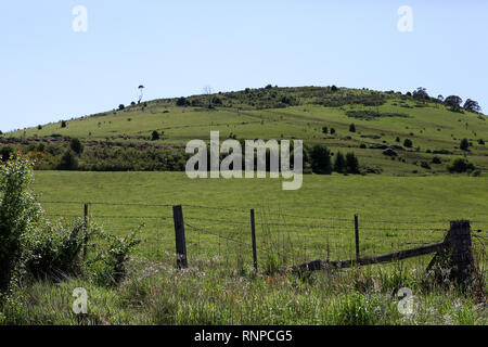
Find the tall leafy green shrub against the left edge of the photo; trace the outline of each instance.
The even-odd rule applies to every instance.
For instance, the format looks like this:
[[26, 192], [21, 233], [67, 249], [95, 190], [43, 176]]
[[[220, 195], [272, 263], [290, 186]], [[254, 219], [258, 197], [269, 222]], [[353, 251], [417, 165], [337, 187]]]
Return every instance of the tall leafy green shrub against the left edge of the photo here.
[[34, 163], [17, 156], [0, 168], [0, 294], [10, 287], [22, 255], [22, 239], [40, 213], [30, 184]]

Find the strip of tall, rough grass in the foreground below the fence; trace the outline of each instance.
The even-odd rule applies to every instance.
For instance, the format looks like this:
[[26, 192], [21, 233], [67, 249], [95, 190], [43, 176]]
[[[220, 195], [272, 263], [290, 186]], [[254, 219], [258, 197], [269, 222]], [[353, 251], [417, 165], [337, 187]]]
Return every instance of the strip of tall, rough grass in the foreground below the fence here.
[[[416, 271], [415, 271], [416, 270]], [[423, 269], [363, 268], [308, 277], [236, 273], [218, 259], [178, 271], [133, 259], [117, 287], [90, 278], [23, 283], [0, 313], [7, 324], [479, 324], [486, 301], [454, 287], [433, 286]], [[74, 288], [88, 292], [89, 312], [73, 313]], [[401, 314], [398, 290], [414, 294]], [[401, 305], [401, 304], [400, 304]]]

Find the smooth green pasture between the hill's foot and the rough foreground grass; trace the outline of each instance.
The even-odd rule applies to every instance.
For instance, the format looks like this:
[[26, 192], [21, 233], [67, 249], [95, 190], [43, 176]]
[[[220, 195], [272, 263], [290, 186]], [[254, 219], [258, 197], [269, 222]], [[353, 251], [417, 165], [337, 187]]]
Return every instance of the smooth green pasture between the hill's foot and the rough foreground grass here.
[[[234, 258], [251, 241], [249, 209], [257, 214], [258, 246], [285, 252], [291, 261], [354, 256], [354, 215], [359, 215], [361, 253], [380, 255], [440, 242], [449, 221], [472, 220], [488, 229], [487, 178], [305, 176], [298, 191], [282, 191], [275, 179], [191, 180], [182, 172], [36, 174], [35, 190], [53, 217], [82, 215], [116, 234], [145, 222], [140, 252], [157, 260], [174, 252], [172, 205], [183, 205], [190, 254]], [[68, 203], [64, 203], [68, 202]], [[279, 242], [267, 233], [277, 232]], [[227, 252], [224, 250], [227, 249]], [[247, 249], [249, 250], [249, 249]], [[251, 250], [244, 252], [249, 261]], [[230, 256], [232, 255], [232, 256]], [[292, 256], [292, 255], [291, 255]], [[296, 265], [296, 264], [295, 264]]]

